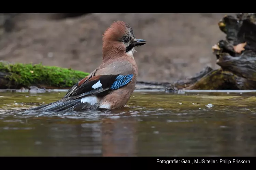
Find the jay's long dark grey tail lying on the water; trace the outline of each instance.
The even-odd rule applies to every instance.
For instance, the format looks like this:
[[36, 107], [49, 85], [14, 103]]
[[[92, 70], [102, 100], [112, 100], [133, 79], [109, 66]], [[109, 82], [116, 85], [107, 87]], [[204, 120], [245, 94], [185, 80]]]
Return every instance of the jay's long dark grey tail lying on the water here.
[[67, 110], [80, 110], [92, 107], [89, 103], [81, 103], [81, 99], [68, 100], [68, 101], [56, 101], [46, 105], [38, 106], [26, 110], [28, 111], [37, 111], [37, 112], [59, 112]]

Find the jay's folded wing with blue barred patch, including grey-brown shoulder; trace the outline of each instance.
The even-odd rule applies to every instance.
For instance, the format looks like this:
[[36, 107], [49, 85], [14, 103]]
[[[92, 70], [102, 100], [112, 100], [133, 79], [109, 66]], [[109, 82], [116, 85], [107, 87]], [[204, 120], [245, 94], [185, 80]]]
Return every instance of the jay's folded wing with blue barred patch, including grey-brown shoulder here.
[[[94, 70], [90, 75], [76, 83], [63, 99], [73, 100], [98, 95], [127, 85], [133, 77], [132, 67], [129, 63], [122, 63], [120, 65], [120, 63], [113, 62], [102, 69]], [[116, 67], [117, 64], [119, 67]]]

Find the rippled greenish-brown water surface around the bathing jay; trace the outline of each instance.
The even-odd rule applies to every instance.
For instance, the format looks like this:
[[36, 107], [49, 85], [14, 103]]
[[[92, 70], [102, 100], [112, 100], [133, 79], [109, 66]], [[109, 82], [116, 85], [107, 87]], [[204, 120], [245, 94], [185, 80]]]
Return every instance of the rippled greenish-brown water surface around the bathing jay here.
[[65, 94], [1, 92], [0, 156], [256, 156], [255, 93], [134, 92], [114, 111], [19, 111]]

